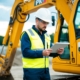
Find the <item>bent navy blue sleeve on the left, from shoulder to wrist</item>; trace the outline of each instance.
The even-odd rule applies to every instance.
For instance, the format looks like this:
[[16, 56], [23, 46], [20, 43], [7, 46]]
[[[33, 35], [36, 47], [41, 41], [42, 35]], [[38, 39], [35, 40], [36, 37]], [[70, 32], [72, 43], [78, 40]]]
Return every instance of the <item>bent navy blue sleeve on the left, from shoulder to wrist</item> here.
[[42, 58], [43, 50], [31, 50], [31, 42], [28, 34], [25, 32], [21, 38], [21, 51], [26, 58]]

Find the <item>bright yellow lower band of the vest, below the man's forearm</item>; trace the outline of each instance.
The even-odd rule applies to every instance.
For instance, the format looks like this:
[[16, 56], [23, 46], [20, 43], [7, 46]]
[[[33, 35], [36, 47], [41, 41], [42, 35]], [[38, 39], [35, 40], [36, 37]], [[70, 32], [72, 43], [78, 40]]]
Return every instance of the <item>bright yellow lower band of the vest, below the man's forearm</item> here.
[[45, 58], [22, 58], [23, 68], [45, 68], [49, 66], [49, 59], [46, 58], [46, 63], [44, 63]]

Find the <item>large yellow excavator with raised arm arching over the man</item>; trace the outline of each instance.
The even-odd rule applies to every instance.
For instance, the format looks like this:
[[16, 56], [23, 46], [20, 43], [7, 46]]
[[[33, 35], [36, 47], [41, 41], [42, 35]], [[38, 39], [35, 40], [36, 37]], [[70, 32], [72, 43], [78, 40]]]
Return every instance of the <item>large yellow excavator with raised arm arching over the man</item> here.
[[[65, 47], [64, 54], [52, 59], [52, 69], [58, 72], [80, 74], [80, 0], [15, 0], [0, 53], [0, 80], [14, 80], [11, 77], [10, 69], [24, 23], [29, 19], [30, 13], [41, 7], [52, 6], [55, 6], [58, 13], [54, 43], [70, 43]], [[67, 22], [66, 26], [64, 26], [65, 21]], [[64, 38], [62, 33], [65, 30]], [[6, 54], [3, 55], [2, 52], [7, 41]]]

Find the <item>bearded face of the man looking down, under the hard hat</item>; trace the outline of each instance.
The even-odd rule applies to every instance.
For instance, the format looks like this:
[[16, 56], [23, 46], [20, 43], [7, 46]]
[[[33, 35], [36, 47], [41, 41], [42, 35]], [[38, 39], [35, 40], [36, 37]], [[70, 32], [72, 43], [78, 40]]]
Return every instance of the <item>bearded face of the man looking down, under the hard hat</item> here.
[[45, 31], [47, 25], [49, 24], [48, 22], [45, 22], [41, 19], [36, 19], [36, 24], [37, 24], [37, 28], [40, 30], [40, 31]]

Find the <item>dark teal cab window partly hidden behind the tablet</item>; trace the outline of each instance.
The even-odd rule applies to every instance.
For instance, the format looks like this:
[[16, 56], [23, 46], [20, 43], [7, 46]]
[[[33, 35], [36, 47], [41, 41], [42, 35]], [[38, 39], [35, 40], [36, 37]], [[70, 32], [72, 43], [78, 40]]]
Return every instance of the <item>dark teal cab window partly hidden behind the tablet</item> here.
[[[63, 16], [60, 14], [61, 18], [61, 28], [59, 31], [59, 36], [58, 36], [58, 42], [69, 42], [69, 31], [68, 31], [68, 24], [64, 20]], [[63, 54], [60, 55], [61, 59], [70, 59], [70, 45], [66, 46], [64, 48]]]

